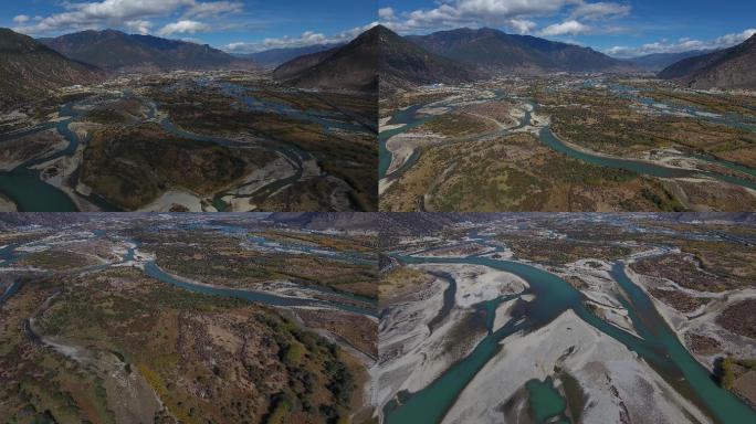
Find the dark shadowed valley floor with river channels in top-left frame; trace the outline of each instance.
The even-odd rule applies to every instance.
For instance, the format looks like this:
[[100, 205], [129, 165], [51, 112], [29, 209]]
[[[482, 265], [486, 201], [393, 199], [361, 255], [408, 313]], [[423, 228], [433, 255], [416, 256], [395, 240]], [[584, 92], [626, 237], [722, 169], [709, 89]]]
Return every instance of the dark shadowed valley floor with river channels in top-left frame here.
[[371, 211], [370, 94], [264, 72], [73, 86], [0, 116], [7, 211]]

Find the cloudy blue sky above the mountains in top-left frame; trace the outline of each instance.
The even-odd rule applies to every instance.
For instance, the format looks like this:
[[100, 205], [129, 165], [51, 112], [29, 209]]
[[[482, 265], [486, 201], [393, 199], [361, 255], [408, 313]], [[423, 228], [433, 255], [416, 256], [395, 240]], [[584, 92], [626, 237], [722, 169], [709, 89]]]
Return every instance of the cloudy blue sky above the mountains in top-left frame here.
[[375, 0], [0, 1], [0, 26], [32, 36], [113, 28], [239, 53], [349, 41], [377, 18]]

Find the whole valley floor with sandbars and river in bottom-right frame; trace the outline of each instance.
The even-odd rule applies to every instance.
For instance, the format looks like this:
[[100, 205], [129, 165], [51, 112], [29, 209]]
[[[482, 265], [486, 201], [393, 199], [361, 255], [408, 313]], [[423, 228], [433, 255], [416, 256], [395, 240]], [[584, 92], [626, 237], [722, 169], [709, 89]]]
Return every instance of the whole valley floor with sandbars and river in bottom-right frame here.
[[372, 400], [384, 422], [756, 416], [753, 225], [463, 216], [443, 236], [397, 231], [386, 244]]

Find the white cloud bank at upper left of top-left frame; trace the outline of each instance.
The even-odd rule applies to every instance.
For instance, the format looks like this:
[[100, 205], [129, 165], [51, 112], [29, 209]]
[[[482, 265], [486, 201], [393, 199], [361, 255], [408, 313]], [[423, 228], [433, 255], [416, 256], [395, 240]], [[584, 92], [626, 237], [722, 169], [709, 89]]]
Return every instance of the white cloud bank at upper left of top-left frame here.
[[[150, 31], [149, 19], [165, 18], [182, 13], [180, 21], [217, 17], [222, 13], [239, 12], [243, 4], [237, 1], [199, 0], [102, 0], [91, 2], [62, 2], [64, 11], [43, 17], [31, 23], [29, 20], [15, 22], [13, 30], [30, 35], [55, 34], [85, 29], [126, 28], [130, 31]], [[191, 19], [190, 19], [191, 18]], [[177, 22], [178, 23], [178, 22]], [[185, 28], [175, 26], [177, 31]], [[174, 26], [171, 26], [174, 28]], [[170, 28], [168, 28], [170, 29]], [[198, 32], [198, 30], [195, 30]], [[169, 33], [169, 32], [167, 32]]]

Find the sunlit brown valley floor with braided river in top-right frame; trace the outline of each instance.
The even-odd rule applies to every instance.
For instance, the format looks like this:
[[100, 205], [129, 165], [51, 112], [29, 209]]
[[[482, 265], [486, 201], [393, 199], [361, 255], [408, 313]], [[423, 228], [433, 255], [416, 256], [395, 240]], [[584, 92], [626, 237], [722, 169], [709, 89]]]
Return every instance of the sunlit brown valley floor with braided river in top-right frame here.
[[750, 211], [756, 96], [611, 75], [399, 91], [382, 211]]

